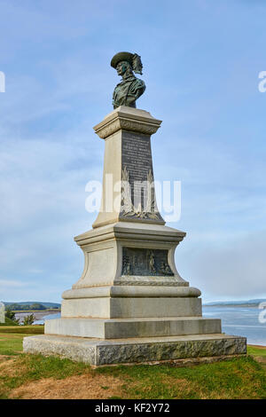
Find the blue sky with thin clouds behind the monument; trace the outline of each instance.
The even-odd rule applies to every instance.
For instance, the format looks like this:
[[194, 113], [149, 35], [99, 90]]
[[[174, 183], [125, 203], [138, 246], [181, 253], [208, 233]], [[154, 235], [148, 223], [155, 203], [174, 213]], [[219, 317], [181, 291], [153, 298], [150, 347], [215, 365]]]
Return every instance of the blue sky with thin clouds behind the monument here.
[[176, 268], [203, 302], [266, 297], [264, 0], [0, 0], [0, 300], [60, 302], [102, 178], [92, 129], [118, 51], [142, 57], [137, 107], [162, 120], [155, 180], [181, 181]]

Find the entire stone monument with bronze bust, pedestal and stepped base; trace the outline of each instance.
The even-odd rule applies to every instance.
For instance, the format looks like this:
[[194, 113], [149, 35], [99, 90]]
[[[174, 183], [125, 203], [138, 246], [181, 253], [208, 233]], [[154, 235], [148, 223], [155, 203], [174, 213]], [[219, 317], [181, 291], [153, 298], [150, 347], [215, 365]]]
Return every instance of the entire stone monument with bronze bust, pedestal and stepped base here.
[[122, 81], [113, 112], [94, 127], [106, 143], [101, 209], [92, 230], [74, 238], [82, 277], [63, 293], [61, 318], [25, 337], [24, 351], [95, 366], [245, 354], [246, 338], [202, 317], [200, 290], [176, 270], [185, 232], [166, 226], [157, 208], [151, 137], [161, 121], [136, 108], [141, 59], [119, 52], [111, 66]]

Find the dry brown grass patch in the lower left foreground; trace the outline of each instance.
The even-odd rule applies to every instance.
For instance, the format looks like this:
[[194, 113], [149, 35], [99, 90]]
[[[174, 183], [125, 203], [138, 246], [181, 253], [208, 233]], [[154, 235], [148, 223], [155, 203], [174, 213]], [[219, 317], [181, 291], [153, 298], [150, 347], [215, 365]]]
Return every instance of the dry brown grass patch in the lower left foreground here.
[[74, 375], [64, 380], [45, 378], [12, 389], [10, 398], [106, 399], [121, 394], [121, 380], [107, 375]]

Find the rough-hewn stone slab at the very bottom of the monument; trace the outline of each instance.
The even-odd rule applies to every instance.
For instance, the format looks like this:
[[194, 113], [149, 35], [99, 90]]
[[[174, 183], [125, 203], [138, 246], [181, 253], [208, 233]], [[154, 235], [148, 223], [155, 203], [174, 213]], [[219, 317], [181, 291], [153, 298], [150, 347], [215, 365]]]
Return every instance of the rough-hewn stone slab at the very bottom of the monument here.
[[136, 339], [90, 339], [41, 334], [25, 337], [28, 353], [56, 355], [93, 366], [246, 354], [246, 338], [193, 334]]

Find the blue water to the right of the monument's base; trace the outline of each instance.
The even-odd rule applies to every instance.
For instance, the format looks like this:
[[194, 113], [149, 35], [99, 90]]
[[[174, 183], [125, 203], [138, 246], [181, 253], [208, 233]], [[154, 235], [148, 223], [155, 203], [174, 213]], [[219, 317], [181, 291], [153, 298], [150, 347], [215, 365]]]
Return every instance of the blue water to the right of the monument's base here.
[[[203, 306], [203, 316], [222, 319], [222, 332], [245, 336], [248, 344], [266, 346], [266, 323], [259, 322], [257, 307]], [[266, 315], [264, 315], [266, 317]]]

